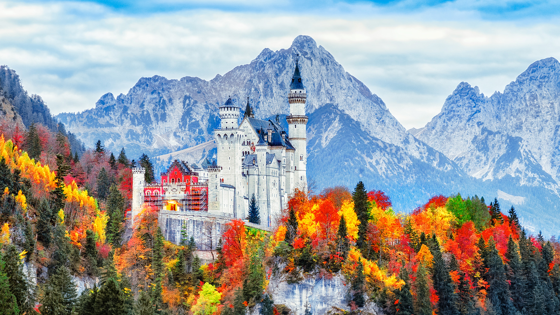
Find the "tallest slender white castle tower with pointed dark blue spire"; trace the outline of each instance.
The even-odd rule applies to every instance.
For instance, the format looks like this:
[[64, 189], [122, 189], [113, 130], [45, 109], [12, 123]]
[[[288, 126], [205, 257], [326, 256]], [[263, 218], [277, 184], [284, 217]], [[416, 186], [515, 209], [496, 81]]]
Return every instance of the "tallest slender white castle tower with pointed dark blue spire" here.
[[288, 122], [288, 140], [296, 149], [293, 156], [293, 186], [294, 188], [306, 189], [306, 165], [307, 165], [307, 120], [309, 117], [305, 115], [305, 102], [307, 94], [304, 84], [301, 81], [300, 66], [296, 59], [296, 70], [293, 72], [292, 82], [290, 84], [290, 94], [288, 94], [288, 103], [290, 103], [290, 115], [286, 117]]

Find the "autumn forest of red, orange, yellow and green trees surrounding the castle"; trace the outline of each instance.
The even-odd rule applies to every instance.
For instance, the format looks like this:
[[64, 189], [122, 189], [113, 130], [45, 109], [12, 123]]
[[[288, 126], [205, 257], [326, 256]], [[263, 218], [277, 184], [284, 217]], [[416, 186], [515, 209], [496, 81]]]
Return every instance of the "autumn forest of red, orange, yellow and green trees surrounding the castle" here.
[[560, 313], [560, 242], [528, 233], [496, 198], [440, 195], [396, 213], [362, 182], [297, 190], [273, 231], [232, 220], [202, 263], [186, 229], [178, 245], [164, 239], [157, 209], [126, 219], [130, 166], [153, 180], [146, 155], [98, 141], [79, 156], [41, 124], [3, 132], [0, 314], [288, 315], [271, 279], [335, 276], [348, 294], [331, 314]]

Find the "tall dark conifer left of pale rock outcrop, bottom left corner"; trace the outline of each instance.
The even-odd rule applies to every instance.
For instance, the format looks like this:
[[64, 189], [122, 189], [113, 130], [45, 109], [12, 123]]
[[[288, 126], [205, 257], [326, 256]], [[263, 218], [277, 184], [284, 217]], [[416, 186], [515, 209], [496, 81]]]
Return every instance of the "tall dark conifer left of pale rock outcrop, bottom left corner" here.
[[3, 271], [8, 276], [10, 291], [16, 297], [17, 307], [21, 312], [30, 312], [32, 305], [28, 299], [29, 286], [19, 258], [20, 254], [17, 252], [15, 245], [7, 245], [3, 257]]

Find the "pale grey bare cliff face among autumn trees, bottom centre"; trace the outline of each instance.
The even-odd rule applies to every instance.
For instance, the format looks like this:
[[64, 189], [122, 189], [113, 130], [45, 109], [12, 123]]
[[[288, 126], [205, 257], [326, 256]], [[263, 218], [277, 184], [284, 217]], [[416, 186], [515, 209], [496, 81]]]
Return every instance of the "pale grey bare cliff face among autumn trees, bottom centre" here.
[[272, 296], [274, 304], [284, 304], [295, 315], [305, 315], [305, 310], [314, 315], [322, 315], [332, 307], [346, 309], [348, 304], [348, 288], [344, 279], [334, 276], [332, 279], [315, 280], [310, 277], [296, 284], [288, 284], [277, 275], [270, 278], [267, 292]]

